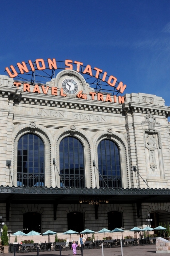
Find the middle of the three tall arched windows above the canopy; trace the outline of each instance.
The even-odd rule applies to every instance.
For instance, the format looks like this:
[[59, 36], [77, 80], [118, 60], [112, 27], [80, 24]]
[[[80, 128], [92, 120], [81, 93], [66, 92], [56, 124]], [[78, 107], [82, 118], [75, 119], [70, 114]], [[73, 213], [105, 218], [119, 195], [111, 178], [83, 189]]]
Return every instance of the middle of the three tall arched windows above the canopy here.
[[61, 140], [59, 170], [60, 187], [84, 187], [84, 149], [78, 139], [65, 137]]

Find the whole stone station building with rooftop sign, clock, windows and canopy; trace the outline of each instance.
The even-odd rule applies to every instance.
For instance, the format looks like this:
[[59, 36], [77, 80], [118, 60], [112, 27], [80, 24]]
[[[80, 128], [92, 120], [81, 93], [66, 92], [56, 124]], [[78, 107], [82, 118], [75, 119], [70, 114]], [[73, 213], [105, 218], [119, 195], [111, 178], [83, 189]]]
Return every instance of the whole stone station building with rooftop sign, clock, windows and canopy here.
[[[55, 74], [54, 59], [41, 82], [34, 74], [43, 62], [31, 63], [0, 75], [0, 216], [8, 229], [126, 231], [146, 225], [148, 214], [151, 227], [170, 222], [164, 100], [125, 94], [122, 82], [90, 65], [77, 71], [67, 62]], [[95, 87], [105, 78], [114, 92]]]

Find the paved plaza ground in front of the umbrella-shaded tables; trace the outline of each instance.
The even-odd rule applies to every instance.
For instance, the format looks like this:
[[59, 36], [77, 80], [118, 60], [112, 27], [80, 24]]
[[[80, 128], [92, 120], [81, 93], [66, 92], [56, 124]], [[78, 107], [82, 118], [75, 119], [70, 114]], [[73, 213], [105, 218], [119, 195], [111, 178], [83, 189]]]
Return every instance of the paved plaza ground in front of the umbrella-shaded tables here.
[[[121, 256], [121, 248], [104, 248], [104, 256]], [[12, 256], [13, 253], [0, 254], [6, 256]], [[39, 252], [41, 256], [59, 256], [59, 251], [45, 251]], [[73, 256], [72, 250], [61, 251], [62, 256]], [[144, 245], [144, 246], [129, 246], [123, 247], [123, 256], [156, 256], [156, 245]], [[166, 253], [158, 254], [160, 256], [168, 255]], [[37, 252], [25, 252], [17, 253], [16, 256], [37, 256]], [[77, 250], [77, 256], [81, 256], [80, 250]], [[83, 256], [102, 256], [102, 249], [85, 249]]]

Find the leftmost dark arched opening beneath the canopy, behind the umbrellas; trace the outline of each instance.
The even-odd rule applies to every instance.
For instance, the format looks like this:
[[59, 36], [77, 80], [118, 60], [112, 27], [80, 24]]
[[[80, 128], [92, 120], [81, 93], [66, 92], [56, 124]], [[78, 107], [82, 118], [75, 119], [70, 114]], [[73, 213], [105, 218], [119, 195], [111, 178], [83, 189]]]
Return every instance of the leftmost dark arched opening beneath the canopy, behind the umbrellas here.
[[28, 233], [31, 230], [41, 233], [41, 214], [38, 212], [23, 214], [23, 232]]

